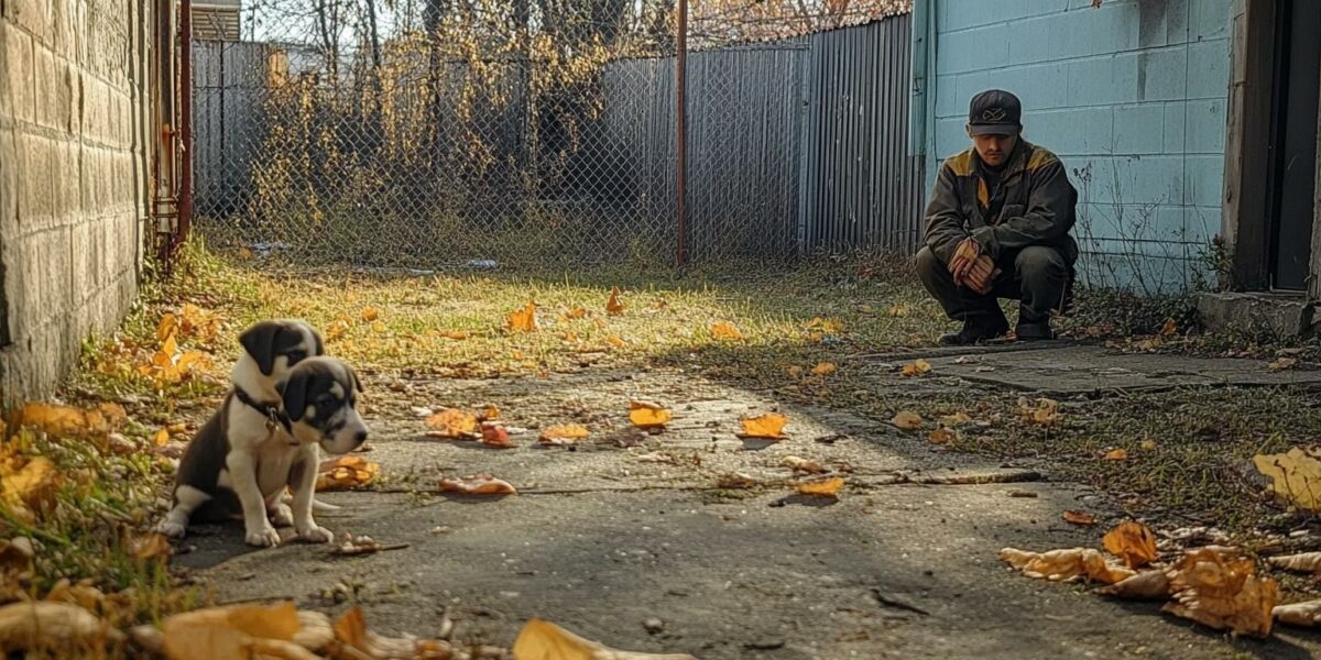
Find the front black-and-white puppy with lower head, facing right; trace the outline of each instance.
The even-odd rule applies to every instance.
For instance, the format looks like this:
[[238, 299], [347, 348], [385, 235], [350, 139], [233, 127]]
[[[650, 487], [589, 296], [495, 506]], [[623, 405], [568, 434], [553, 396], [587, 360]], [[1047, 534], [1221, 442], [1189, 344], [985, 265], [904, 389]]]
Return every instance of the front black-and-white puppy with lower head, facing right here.
[[[299, 362], [279, 389], [279, 418], [260, 433], [230, 424], [236, 391], [202, 426], [180, 462], [174, 507], [161, 523], [162, 532], [181, 535], [197, 512], [242, 515], [250, 545], [280, 543], [272, 519], [277, 525], [292, 524], [304, 541], [333, 540], [312, 516], [320, 449], [343, 454], [366, 442], [367, 425], [357, 411], [362, 384], [347, 364], [321, 356]], [[285, 487], [293, 491], [292, 510], [280, 502]]]

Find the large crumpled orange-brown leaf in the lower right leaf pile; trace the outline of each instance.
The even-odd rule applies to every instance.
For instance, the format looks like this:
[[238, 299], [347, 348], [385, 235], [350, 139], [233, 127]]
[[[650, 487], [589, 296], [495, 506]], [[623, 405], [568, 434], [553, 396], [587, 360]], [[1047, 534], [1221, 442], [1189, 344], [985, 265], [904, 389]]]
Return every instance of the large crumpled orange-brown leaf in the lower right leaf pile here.
[[1264, 638], [1271, 634], [1279, 585], [1259, 578], [1250, 557], [1213, 548], [1188, 550], [1169, 570], [1174, 601], [1164, 611], [1203, 626]]

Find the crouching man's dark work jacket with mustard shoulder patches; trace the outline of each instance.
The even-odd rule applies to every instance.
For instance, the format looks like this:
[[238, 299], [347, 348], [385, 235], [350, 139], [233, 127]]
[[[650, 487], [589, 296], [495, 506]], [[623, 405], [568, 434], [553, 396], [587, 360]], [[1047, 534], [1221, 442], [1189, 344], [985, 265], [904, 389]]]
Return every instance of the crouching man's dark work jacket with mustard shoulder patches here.
[[999, 185], [992, 185], [970, 148], [941, 165], [926, 207], [926, 244], [945, 264], [968, 236], [996, 260], [1005, 251], [1046, 246], [1073, 267], [1078, 243], [1069, 230], [1077, 203], [1063, 164], [1049, 150], [1020, 139]]

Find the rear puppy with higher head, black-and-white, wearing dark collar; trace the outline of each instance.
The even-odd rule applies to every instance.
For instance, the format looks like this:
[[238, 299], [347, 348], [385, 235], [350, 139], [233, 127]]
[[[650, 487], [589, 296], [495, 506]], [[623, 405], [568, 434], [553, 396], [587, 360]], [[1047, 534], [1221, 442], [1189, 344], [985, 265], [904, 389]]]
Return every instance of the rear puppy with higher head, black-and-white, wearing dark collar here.
[[[247, 543], [273, 545], [279, 535], [271, 521], [284, 527], [299, 523], [280, 499], [283, 487], [267, 496], [259, 482], [269, 483], [273, 477], [268, 473], [287, 473], [292, 466], [292, 447], [299, 441], [292, 436], [281, 384], [297, 364], [321, 355], [324, 345], [312, 326], [297, 319], [256, 323], [239, 335], [239, 343], [243, 355], [234, 366], [230, 393], [180, 461], [174, 506], [159, 527], [168, 536], [182, 537], [194, 513], [214, 520], [242, 512]], [[309, 471], [314, 479], [314, 463]], [[329, 540], [324, 529], [299, 531]]]

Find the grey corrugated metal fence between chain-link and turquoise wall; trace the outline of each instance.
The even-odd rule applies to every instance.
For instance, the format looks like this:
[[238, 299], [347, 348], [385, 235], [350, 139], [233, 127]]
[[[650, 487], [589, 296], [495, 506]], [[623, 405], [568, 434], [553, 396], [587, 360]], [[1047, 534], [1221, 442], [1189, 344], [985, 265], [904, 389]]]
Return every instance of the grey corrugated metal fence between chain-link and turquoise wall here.
[[[688, 57], [688, 249], [787, 256], [888, 248], [921, 234], [908, 154], [909, 16]], [[606, 67], [602, 140], [672, 213], [674, 61]], [[643, 74], [645, 71], [645, 74]]]

